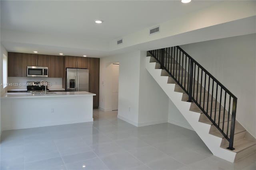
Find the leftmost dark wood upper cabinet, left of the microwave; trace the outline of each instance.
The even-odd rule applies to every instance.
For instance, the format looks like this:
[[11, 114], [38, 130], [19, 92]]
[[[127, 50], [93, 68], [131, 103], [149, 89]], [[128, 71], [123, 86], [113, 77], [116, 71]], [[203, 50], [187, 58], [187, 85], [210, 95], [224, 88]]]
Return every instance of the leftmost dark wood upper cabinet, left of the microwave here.
[[24, 53], [8, 53], [8, 76], [26, 77], [27, 59]]

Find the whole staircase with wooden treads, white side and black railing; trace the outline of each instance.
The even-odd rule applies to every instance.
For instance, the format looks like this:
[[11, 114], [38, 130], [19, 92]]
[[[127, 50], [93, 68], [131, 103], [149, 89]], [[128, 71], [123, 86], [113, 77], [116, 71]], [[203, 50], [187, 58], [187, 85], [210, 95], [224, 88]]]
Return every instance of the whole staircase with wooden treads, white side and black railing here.
[[237, 98], [179, 46], [148, 51], [146, 69], [211, 152], [235, 162], [256, 152], [236, 121]]

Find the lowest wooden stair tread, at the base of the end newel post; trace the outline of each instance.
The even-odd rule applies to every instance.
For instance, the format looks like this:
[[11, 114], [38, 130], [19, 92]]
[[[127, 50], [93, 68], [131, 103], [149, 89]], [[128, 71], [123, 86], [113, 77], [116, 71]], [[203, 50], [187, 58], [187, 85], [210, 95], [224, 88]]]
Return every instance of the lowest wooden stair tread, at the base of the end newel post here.
[[[256, 141], [251, 141], [249, 139], [240, 139], [238, 141], [234, 141], [233, 147], [235, 150], [231, 150], [232, 152], [241, 152], [244, 149], [247, 149], [248, 147], [251, 147], [253, 145], [256, 145]], [[227, 148], [228, 145], [223, 146], [222, 148]]]

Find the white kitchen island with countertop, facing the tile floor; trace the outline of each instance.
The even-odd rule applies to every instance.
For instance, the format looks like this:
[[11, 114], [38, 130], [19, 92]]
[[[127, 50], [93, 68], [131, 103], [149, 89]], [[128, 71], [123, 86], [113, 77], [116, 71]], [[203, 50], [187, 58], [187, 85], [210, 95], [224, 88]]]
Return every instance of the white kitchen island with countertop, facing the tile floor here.
[[1, 96], [2, 130], [93, 121], [89, 92], [6, 93]]

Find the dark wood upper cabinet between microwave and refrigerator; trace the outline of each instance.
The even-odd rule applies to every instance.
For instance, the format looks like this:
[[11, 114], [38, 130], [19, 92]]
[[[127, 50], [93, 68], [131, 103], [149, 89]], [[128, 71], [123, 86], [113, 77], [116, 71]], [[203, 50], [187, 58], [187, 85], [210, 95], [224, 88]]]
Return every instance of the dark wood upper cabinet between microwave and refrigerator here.
[[64, 77], [64, 57], [50, 55], [48, 57], [48, 77], [63, 78]]

